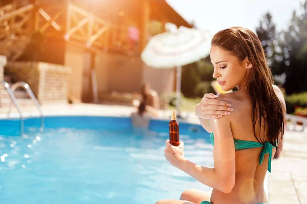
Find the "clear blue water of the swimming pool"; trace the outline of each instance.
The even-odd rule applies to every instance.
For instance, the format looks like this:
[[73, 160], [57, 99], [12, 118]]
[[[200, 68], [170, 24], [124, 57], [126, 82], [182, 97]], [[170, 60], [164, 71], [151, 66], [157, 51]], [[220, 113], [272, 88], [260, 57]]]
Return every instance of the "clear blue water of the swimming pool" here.
[[[135, 130], [129, 118], [64, 116], [0, 120], [0, 203], [152, 204], [179, 199], [183, 190], [210, 188], [164, 157], [168, 121]], [[187, 159], [213, 167], [209, 134], [180, 123]]]

